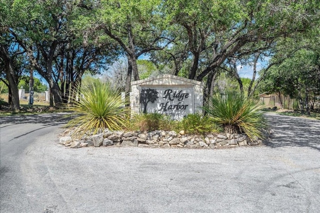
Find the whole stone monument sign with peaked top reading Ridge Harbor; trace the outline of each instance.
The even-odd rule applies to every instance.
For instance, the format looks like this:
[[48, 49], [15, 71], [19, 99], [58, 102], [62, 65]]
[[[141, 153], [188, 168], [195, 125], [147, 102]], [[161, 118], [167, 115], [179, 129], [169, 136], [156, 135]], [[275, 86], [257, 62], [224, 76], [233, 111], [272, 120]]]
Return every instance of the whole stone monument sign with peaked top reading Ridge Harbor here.
[[201, 111], [203, 83], [174, 75], [159, 75], [131, 83], [130, 106], [134, 113], [160, 113], [181, 120]]

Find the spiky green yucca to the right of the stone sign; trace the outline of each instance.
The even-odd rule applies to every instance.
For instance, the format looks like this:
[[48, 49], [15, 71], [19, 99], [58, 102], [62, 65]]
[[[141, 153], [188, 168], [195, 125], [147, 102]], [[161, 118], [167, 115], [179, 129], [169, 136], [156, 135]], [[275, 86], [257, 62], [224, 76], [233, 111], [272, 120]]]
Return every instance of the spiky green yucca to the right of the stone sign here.
[[226, 133], [245, 133], [250, 140], [263, 138], [265, 122], [257, 100], [239, 92], [216, 94], [202, 109], [213, 122], [223, 126]]

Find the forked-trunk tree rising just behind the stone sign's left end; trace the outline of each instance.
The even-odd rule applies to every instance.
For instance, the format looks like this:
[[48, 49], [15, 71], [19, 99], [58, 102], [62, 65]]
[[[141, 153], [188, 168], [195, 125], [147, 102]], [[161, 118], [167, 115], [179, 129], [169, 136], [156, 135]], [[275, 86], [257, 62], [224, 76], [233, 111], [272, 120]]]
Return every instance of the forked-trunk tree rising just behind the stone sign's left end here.
[[125, 92], [130, 90], [131, 76], [139, 80], [136, 60], [152, 50], [168, 44], [163, 36], [160, 0], [101, 0], [99, 3], [81, 3], [88, 9], [79, 16], [77, 26], [90, 34], [103, 31], [116, 41], [127, 57], [128, 70]]

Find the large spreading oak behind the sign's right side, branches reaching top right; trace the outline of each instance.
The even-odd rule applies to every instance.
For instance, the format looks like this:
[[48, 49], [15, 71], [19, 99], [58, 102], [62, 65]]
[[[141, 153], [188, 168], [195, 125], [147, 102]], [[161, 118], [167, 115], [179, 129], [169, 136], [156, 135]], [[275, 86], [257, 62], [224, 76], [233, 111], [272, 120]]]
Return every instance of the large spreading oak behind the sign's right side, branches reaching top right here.
[[267, 52], [278, 38], [304, 32], [319, 19], [317, 1], [175, 0], [164, 4], [172, 25], [185, 28], [182, 32], [192, 58], [188, 77], [202, 81], [210, 74], [207, 89], [213, 73], [228, 57]]

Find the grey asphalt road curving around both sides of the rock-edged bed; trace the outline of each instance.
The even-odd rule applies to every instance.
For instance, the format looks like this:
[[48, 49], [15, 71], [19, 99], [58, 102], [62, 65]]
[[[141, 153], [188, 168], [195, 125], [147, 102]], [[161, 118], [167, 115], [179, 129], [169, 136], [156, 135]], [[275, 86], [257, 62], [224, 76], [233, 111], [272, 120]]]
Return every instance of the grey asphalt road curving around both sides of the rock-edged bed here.
[[1, 213], [319, 211], [320, 121], [267, 114], [258, 147], [70, 149], [56, 117], [1, 117]]

